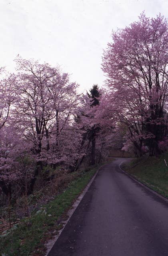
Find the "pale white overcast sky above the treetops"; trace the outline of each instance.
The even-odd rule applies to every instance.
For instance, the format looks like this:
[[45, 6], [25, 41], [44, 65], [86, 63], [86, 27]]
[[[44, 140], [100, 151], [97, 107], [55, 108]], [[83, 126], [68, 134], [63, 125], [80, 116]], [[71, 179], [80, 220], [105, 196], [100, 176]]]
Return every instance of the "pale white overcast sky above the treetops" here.
[[168, 0], [0, 0], [0, 66], [14, 58], [59, 64], [80, 88], [101, 86], [103, 49], [112, 29], [146, 16], [168, 18]]

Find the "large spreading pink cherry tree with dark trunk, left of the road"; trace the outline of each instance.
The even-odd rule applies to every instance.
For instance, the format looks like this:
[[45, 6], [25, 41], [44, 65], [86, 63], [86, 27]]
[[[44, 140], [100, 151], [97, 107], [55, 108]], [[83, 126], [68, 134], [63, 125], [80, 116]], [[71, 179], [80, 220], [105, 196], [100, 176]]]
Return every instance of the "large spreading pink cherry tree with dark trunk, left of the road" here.
[[[23, 130], [25, 141], [36, 168], [30, 182], [29, 193], [43, 166], [67, 160], [66, 141], [72, 116], [78, 105], [76, 83], [71, 83], [68, 74], [61, 74], [59, 68], [39, 64], [34, 60], [16, 58], [18, 67], [17, 92], [14, 116]], [[73, 160], [71, 158], [71, 160]]]

